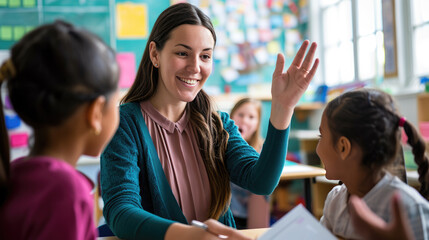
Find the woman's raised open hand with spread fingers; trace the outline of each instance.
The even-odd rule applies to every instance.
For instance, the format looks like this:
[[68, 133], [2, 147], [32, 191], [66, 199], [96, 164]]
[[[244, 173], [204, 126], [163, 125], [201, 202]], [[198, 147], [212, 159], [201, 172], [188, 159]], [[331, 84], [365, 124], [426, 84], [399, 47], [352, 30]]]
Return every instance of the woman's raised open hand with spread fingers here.
[[[277, 55], [276, 68], [271, 85], [271, 124], [277, 129], [286, 129], [292, 118], [293, 109], [301, 96], [307, 90], [311, 79], [316, 74], [319, 59], [313, 63], [317, 44], [312, 43], [305, 56], [310, 42], [305, 40], [296, 54], [289, 69], [284, 73], [285, 58]], [[305, 58], [304, 58], [305, 57]]]

